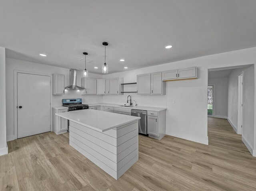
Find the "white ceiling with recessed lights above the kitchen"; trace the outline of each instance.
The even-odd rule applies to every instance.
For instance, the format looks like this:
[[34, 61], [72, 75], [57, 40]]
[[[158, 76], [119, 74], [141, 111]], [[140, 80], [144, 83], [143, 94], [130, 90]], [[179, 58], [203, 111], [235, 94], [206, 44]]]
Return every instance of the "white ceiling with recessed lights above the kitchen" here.
[[80, 70], [87, 51], [87, 69], [101, 73], [107, 41], [114, 73], [255, 47], [255, 18], [255, 0], [2, 0], [0, 46], [10, 58]]

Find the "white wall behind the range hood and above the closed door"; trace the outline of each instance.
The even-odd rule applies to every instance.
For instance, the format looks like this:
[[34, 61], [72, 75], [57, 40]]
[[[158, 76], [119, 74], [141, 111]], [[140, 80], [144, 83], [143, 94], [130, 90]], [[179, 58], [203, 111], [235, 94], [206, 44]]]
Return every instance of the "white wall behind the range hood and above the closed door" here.
[[[30, 71], [45, 74], [64, 74], [65, 87], [69, 85], [69, 69], [26, 62], [16, 59], [6, 58], [6, 127], [7, 140], [14, 140], [14, 70]], [[1, 70], [4, 71], [4, 70]], [[77, 73], [77, 85], [81, 86], [82, 71]], [[89, 77], [102, 78], [102, 75], [89, 73]], [[98, 103], [103, 101], [102, 95], [81, 95], [79, 92], [66, 91], [65, 95], [53, 95], [52, 106], [61, 106], [63, 98], [82, 98], [83, 103]]]

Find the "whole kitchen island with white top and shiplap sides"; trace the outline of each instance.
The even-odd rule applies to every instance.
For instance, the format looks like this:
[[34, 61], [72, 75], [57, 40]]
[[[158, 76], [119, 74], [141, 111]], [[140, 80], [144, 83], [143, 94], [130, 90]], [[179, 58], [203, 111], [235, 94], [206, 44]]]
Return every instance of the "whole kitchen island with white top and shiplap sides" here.
[[69, 144], [118, 179], [138, 161], [140, 117], [85, 109], [56, 113], [69, 120]]

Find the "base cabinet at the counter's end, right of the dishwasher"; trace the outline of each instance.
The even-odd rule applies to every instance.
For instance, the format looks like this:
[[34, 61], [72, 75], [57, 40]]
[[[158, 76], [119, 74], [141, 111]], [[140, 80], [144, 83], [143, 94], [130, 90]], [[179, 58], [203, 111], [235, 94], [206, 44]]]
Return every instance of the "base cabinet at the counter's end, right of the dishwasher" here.
[[166, 134], [166, 110], [148, 110], [148, 136], [160, 140]]

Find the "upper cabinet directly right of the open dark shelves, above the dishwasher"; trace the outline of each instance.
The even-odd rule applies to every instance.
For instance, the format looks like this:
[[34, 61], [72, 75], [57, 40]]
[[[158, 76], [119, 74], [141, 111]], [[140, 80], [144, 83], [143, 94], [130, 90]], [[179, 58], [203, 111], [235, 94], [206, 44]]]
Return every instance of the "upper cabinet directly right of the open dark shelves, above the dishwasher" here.
[[151, 94], [151, 74], [137, 75], [137, 93]]

